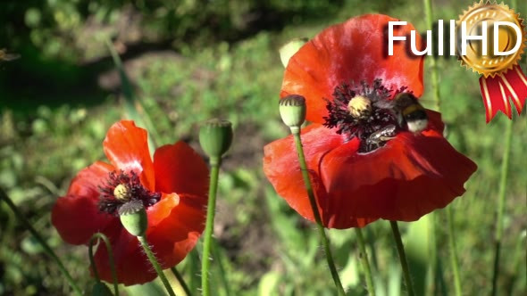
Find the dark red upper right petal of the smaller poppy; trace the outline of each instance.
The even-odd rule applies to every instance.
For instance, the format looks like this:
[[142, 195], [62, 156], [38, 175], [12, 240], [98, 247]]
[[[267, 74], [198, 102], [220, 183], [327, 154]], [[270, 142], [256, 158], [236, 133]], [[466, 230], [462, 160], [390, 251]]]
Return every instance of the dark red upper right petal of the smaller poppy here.
[[155, 190], [206, 196], [209, 169], [188, 144], [178, 142], [159, 147], [154, 154]]

